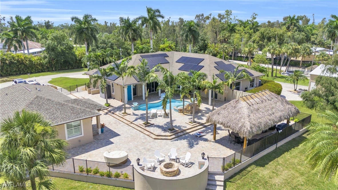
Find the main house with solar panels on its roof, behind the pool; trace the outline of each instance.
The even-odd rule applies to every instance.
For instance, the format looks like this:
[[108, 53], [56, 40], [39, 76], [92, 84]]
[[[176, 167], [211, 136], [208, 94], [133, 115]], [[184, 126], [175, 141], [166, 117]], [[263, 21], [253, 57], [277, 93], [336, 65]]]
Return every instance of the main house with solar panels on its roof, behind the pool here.
[[[141, 63], [142, 58], [148, 60], [148, 66], [152, 69], [155, 65], [161, 64], [167, 69], [169, 69], [174, 75], [179, 72], [187, 72], [190, 73], [190, 70], [204, 72], [208, 75], [209, 81], [212, 81], [212, 75], [215, 74], [220, 80], [224, 80], [224, 75], [219, 74], [220, 70], [224, 71], [233, 71], [237, 64], [219, 59], [217, 57], [207, 55], [207, 54], [197, 54], [197, 53], [185, 53], [185, 52], [157, 52], [157, 53], [146, 53], [146, 54], [135, 54], [131, 56], [131, 60], [128, 65], [138, 65]], [[121, 60], [117, 61], [120, 63]], [[113, 64], [113, 63], [111, 63]], [[107, 64], [102, 67], [107, 67]], [[239, 91], [245, 91], [257, 87], [259, 84], [260, 76], [264, 74], [253, 71], [251, 69], [247, 69], [245, 67], [241, 67], [241, 69], [245, 69], [248, 74], [251, 76], [252, 81], [246, 80], [238, 80], [235, 83], [235, 89]], [[160, 72], [156, 72], [160, 75]], [[97, 70], [91, 70], [86, 72], [88, 75], [100, 74]], [[135, 96], [143, 96], [145, 94], [144, 84], [142, 84], [137, 77], [129, 77], [124, 79], [125, 89], [122, 89], [122, 79], [113, 75], [107, 78], [107, 94], [108, 98], [115, 98], [118, 101], [123, 102], [124, 99], [127, 101], [134, 100]], [[147, 84], [147, 89], [149, 93], [156, 93], [158, 83], [152, 82]], [[96, 86], [97, 88], [98, 86]], [[231, 86], [232, 87], [232, 86]], [[215, 99], [220, 101], [230, 101], [231, 100], [231, 90], [227, 86], [224, 86], [225, 92], [223, 95], [214, 93]], [[125, 97], [122, 97], [122, 91], [125, 91]], [[160, 95], [160, 92], [159, 92]], [[212, 92], [206, 94], [204, 92], [201, 95], [205, 98], [209, 97], [209, 104], [211, 104]], [[104, 96], [101, 96], [104, 97]]]

